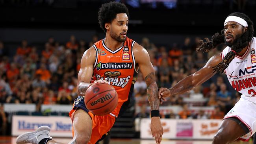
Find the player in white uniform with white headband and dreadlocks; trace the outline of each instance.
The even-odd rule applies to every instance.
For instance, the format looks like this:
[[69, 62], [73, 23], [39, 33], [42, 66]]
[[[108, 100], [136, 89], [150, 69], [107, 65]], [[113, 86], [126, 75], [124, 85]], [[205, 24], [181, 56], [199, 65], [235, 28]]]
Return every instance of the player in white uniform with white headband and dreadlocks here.
[[170, 89], [161, 88], [159, 98], [182, 94], [204, 83], [217, 72], [224, 72], [232, 87], [240, 92], [241, 98], [224, 116], [213, 144], [228, 144], [237, 140], [247, 141], [256, 131], [256, 38], [250, 18], [243, 13], [232, 13], [224, 22], [221, 34], [215, 33], [211, 41], [200, 40], [198, 50], [208, 52], [217, 45], [225, 43], [227, 47], [214, 55], [206, 65], [179, 81]]

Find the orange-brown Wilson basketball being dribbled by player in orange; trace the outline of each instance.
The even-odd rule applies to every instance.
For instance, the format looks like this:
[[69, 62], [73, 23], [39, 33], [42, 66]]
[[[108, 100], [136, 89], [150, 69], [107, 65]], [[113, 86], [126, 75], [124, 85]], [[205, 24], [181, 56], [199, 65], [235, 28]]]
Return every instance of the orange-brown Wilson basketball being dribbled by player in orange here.
[[95, 115], [106, 115], [117, 107], [117, 91], [108, 83], [93, 83], [85, 92], [86, 108]]

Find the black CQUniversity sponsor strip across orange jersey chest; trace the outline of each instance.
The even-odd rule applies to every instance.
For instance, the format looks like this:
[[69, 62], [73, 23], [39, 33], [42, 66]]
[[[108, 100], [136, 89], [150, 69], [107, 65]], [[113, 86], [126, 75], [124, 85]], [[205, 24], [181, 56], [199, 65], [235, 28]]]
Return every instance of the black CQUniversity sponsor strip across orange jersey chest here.
[[107, 69], [132, 69], [132, 63], [97, 63], [97, 70], [107, 70]]

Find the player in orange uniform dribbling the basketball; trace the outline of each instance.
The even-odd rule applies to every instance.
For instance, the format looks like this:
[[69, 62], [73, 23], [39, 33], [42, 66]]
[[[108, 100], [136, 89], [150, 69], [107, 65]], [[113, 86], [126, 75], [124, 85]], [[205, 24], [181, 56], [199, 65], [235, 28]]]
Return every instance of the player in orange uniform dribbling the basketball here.
[[[96, 42], [82, 57], [78, 73], [78, 98], [69, 116], [73, 122], [74, 138], [69, 144], [95, 144], [108, 134], [115, 120], [126, 111], [133, 92], [138, 70], [147, 83], [147, 96], [151, 107], [151, 132], [156, 143], [160, 144], [163, 128], [159, 116], [160, 100], [157, 96], [154, 68], [147, 51], [129, 39], [129, 13], [124, 4], [109, 2], [98, 12], [100, 27], [106, 38]], [[84, 94], [90, 83], [108, 81], [118, 93], [117, 107], [105, 116], [93, 115], [84, 104]], [[58, 144], [50, 139], [50, 128], [43, 126], [36, 131], [25, 133], [17, 138], [17, 144]]]

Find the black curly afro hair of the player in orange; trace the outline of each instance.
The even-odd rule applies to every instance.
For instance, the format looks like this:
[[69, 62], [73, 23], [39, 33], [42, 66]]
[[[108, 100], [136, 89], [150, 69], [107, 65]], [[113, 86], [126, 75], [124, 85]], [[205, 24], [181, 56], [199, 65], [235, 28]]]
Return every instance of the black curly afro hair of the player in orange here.
[[105, 28], [105, 24], [108, 22], [110, 23], [113, 19], [116, 18], [117, 14], [119, 13], [126, 13], [129, 18], [128, 8], [120, 2], [109, 2], [101, 5], [98, 12], [98, 21], [100, 24], [100, 28], [102, 28], [105, 33], [107, 31]]

